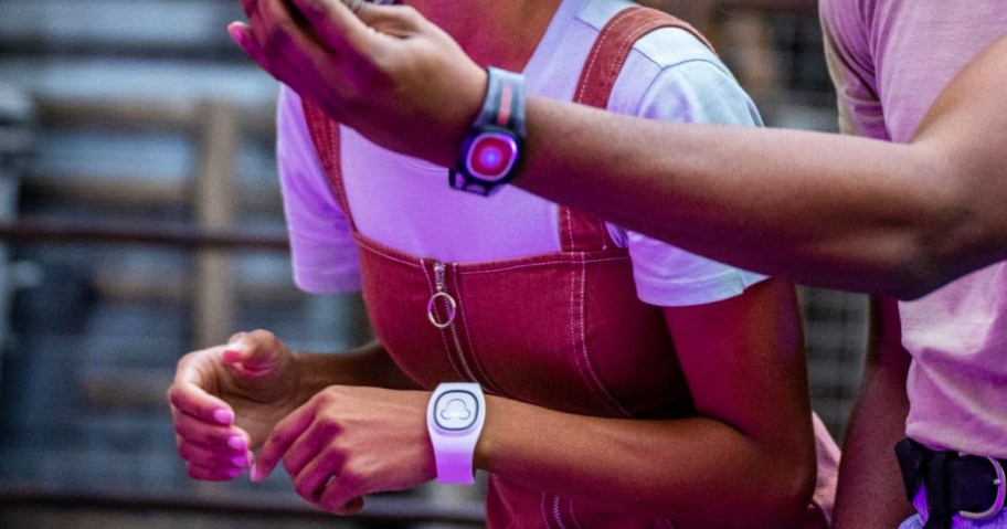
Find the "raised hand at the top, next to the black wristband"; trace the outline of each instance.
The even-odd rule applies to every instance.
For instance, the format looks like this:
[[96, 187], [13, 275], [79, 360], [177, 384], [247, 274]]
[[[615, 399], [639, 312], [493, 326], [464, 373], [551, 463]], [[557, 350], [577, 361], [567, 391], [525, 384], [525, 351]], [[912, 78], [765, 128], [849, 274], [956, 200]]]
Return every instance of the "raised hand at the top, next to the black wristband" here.
[[486, 73], [404, 6], [360, 0], [242, 0], [234, 41], [338, 121], [405, 155], [453, 166]]

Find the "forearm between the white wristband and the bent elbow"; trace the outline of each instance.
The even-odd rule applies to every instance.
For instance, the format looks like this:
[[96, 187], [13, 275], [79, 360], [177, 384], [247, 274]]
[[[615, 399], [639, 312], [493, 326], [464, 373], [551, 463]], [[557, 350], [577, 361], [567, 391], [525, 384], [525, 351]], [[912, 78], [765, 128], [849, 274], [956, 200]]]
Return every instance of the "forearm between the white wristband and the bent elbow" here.
[[814, 488], [809, 435], [756, 441], [708, 417], [571, 415], [487, 399], [476, 466], [534, 489], [700, 526], [781, 527]]

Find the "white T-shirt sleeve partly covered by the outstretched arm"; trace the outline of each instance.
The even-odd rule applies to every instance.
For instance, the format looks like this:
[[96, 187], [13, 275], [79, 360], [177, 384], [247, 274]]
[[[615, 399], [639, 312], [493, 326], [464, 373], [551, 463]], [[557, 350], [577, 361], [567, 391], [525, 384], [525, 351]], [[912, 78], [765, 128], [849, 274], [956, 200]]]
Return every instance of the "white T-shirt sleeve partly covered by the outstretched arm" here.
[[[676, 39], [681, 40], [681, 34]], [[704, 47], [662, 66], [643, 93], [636, 115], [681, 123], [762, 125], [751, 98]], [[625, 231], [624, 235], [637, 295], [644, 303], [662, 307], [713, 303], [765, 278], [636, 232]]]

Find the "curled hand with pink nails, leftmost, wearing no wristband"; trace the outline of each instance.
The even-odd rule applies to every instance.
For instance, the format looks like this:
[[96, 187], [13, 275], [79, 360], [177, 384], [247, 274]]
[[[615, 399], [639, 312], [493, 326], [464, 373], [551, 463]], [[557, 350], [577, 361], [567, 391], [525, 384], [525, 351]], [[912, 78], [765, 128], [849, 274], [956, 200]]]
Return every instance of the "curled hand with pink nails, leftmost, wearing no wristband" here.
[[189, 475], [214, 482], [241, 475], [251, 449], [300, 404], [299, 385], [294, 355], [264, 330], [182, 357], [168, 400]]

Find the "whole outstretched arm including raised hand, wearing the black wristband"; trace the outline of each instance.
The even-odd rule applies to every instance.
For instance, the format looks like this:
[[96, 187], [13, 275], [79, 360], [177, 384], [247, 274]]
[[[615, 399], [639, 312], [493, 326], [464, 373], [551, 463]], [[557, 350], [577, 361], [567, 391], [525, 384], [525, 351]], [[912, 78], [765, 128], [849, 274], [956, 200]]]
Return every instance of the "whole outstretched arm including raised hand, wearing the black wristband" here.
[[[451, 166], [486, 74], [415, 10], [244, 0], [265, 70], [400, 152]], [[1007, 258], [1007, 38], [909, 145], [679, 125], [531, 97], [515, 182], [682, 248], [799, 283], [919, 297]], [[451, 104], [445, 104], [451, 102]], [[445, 183], [446, 184], [446, 183]]]

